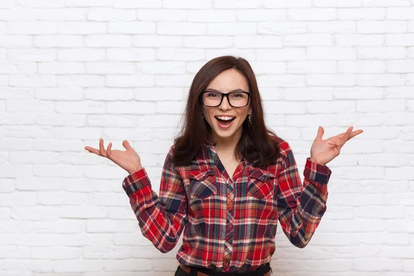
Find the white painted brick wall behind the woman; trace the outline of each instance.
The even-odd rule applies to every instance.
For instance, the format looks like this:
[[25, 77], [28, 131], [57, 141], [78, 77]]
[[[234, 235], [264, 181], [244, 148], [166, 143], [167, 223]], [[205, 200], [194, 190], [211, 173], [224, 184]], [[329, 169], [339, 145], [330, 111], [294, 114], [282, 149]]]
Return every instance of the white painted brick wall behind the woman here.
[[305, 249], [279, 228], [275, 275], [414, 274], [414, 1], [0, 0], [0, 275], [173, 275], [140, 233], [126, 172], [155, 190], [195, 72], [241, 55], [302, 174], [326, 136], [365, 130], [329, 166]]

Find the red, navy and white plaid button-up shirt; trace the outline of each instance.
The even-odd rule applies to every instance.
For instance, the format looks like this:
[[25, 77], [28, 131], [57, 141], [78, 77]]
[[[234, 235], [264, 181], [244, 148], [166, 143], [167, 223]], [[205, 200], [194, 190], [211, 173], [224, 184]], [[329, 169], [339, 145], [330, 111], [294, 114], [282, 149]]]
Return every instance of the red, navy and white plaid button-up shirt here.
[[290, 146], [275, 139], [281, 153], [273, 164], [256, 168], [242, 159], [233, 177], [210, 142], [188, 166], [174, 166], [170, 148], [159, 195], [145, 168], [128, 175], [123, 188], [143, 235], [166, 253], [184, 230], [178, 261], [223, 272], [270, 262], [278, 219], [292, 244], [306, 246], [326, 210], [331, 170], [306, 159], [302, 185]]

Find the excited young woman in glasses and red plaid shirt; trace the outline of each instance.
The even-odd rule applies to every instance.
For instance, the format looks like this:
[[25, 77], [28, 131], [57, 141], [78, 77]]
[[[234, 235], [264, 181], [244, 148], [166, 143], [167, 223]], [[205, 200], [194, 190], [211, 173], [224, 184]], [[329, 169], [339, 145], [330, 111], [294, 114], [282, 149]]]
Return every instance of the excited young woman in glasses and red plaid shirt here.
[[327, 140], [319, 127], [302, 185], [289, 144], [264, 124], [254, 72], [242, 58], [217, 57], [195, 75], [184, 127], [166, 157], [159, 195], [137, 152], [86, 150], [129, 175], [123, 188], [141, 232], [163, 253], [184, 231], [175, 275], [270, 275], [277, 221], [290, 242], [308, 244], [326, 210], [326, 164], [362, 133]]

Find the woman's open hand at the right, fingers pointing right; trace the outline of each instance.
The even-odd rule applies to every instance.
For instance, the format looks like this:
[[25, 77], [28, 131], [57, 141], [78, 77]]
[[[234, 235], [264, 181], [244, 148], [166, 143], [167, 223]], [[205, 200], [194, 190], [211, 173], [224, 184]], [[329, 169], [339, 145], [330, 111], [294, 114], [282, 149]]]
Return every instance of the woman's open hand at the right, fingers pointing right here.
[[325, 132], [324, 128], [319, 126], [316, 138], [311, 146], [311, 161], [321, 165], [326, 165], [328, 162], [332, 161], [339, 155], [339, 152], [341, 152], [341, 148], [346, 141], [364, 132], [364, 130], [352, 130], [353, 127], [351, 126], [346, 132], [324, 140], [322, 139]]

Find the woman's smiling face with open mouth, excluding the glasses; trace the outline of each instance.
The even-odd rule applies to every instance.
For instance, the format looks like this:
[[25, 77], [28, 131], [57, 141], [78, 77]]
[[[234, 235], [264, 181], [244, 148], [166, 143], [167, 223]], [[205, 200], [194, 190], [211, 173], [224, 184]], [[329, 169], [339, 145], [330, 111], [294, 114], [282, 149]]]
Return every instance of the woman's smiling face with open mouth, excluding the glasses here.
[[[207, 86], [205, 91], [212, 92], [250, 92], [248, 81], [236, 69], [229, 69], [217, 75]], [[205, 95], [206, 96], [206, 95]], [[212, 94], [209, 97], [214, 97]], [[234, 95], [234, 99], [239, 99], [242, 95]], [[216, 96], [217, 97], [217, 96]], [[251, 96], [250, 96], [251, 97]], [[204, 97], [206, 103], [206, 97]], [[204, 119], [212, 128], [213, 139], [238, 139], [242, 134], [242, 125], [248, 114], [251, 114], [250, 100], [248, 105], [242, 108], [230, 106], [228, 99], [223, 97], [223, 101], [217, 107], [203, 106]], [[230, 119], [230, 120], [229, 120]]]

